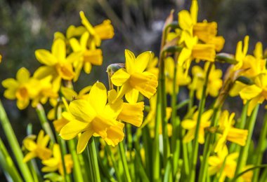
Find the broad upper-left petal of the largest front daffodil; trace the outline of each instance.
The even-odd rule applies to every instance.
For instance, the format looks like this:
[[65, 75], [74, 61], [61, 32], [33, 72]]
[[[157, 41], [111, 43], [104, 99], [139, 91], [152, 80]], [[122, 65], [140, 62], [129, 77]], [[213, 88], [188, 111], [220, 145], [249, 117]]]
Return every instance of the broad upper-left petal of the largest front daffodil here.
[[70, 102], [70, 113], [82, 122], [87, 124], [96, 117], [96, 111], [92, 108], [88, 101], [84, 99], [77, 99]]

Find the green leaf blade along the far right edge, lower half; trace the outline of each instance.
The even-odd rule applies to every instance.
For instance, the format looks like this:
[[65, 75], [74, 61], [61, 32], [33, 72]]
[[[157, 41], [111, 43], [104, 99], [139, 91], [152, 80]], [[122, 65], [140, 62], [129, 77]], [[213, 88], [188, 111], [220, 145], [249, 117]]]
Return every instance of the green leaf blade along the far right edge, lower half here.
[[[263, 153], [266, 149], [266, 137], [267, 137], [267, 114], [264, 116], [263, 127], [261, 129], [261, 134], [259, 137], [259, 144], [255, 150], [255, 155], [254, 155], [255, 166], [261, 165], [263, 159]], [[258, 181], [258, 179], [259, 179], [259, 169], [255, 169], [252, 181]]]

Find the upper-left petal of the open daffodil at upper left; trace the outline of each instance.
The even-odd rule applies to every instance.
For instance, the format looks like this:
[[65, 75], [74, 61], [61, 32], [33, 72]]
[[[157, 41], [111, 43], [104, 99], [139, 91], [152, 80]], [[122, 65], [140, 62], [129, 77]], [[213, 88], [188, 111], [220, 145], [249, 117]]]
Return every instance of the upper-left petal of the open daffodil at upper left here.
[[47, 66], [53, 66], [58, 62], [51, 52], [44, 49], [35, 50], [35, 57], [41, 64], [46, 64]]

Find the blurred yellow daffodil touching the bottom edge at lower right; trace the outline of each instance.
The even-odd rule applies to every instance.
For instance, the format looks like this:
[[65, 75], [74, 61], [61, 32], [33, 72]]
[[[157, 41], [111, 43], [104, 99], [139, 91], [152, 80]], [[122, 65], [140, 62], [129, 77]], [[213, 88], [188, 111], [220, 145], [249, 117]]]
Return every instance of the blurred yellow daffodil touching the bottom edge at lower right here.
[[[232, 179], [235, 175], [235, 168], [237, 165], [235, 160], [238, 158], [238, 153], [228, 154], [227, 146], [223, 146], [222, 150], [219, 150], [216, 154], [217, 155], [209, 157], [209, 175], [219, 175], [222, 171], [219, 181], [225, 181], [226, 176]], [[223, 170], [221, 169], [222, 167]]]

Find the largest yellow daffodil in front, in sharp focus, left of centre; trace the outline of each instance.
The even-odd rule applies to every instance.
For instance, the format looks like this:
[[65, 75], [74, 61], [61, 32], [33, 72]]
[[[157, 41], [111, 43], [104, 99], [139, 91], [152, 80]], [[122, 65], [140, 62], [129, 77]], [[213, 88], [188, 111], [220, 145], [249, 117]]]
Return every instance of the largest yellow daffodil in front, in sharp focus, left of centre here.
[[[89, 139], [100, 136], [103, 139], [122, 141], [122, 125], [116, 120], [122, 111], [122, 100], [115, 104], [107, 104], [107, 90], [103, 83], [95, 83], [87, 99], [77, 99], [70, 102], [69, 111], [74, 116], [67, 125], [60, 130], [60, 137], [65, 140], [73, 139], [78, 134], [77, 153], [84, 151]], [[116, 134], [117, 133], [117, 134]]]

